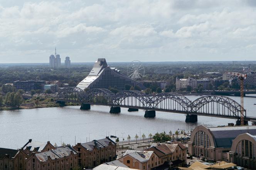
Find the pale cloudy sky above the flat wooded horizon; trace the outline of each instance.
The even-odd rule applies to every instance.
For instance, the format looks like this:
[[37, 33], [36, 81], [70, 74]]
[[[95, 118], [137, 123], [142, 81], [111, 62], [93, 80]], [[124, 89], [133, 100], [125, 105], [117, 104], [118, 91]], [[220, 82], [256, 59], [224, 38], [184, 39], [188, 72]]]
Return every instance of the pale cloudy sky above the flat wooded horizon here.
[[256, 0], [0, 0], [0, 63], [256, 58]]

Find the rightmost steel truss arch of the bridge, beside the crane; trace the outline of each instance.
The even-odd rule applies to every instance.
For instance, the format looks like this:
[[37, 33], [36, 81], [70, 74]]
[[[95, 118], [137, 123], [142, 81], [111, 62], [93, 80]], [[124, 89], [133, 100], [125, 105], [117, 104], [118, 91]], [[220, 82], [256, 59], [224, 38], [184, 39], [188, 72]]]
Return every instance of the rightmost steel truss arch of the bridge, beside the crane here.
[[[194, 100], [190, 108], [194, 113], [241, 117], [242, 106], [229, 97], [209, 95]], [[244, 116], [246, 117], [246, 112]]]

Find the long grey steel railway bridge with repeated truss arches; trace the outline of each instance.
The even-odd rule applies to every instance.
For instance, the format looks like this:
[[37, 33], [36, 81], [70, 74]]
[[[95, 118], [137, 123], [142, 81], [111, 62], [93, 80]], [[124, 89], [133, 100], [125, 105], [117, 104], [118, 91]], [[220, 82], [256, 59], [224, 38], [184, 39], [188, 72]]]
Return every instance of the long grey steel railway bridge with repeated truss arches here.
[[[231, 98], [216, 95], [207, 95], [191, 101], [179, 93], [147, 95], [137, 90], [125, 90], [115, 94], [105, 88], [94, 88], [83, 91], [78, 87], [67, 87], [59, 90], [56, 101], [232, 118], [237, 120], [240, 120], [241, 117], [241, 105], [239, 103]], [[245, 110], [244, 120], [256, 121], [256, 117], [247, 117]]]

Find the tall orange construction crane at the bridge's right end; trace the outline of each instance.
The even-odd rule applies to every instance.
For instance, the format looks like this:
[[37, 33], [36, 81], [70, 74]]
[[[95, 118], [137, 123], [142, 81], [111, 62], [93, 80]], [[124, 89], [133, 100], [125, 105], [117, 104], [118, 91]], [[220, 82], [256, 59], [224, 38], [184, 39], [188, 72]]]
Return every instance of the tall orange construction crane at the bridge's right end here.
[[235, 73], [235, 72], [226, 72], [227, 74], [235, 75], [240, 80], [240, 93], [241, 93], [241, 126], [244, 125], [244, 80], [247, 77], [247, 74]]

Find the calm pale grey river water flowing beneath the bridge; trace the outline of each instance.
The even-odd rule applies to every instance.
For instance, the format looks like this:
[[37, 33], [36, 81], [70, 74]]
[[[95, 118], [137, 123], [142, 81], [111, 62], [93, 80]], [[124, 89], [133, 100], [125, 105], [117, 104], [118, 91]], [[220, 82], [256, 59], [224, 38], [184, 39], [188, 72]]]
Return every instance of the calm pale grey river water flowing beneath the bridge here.
[[[200, 96], [187, 96], [195, 100]], [[240, 103], [240, 97], [231, 97]], [[245, 97], [244, 108], [247, 116], [256, 117], [256, 98]], [[197, 123], [185, 123], [185, 115], [179, 113], [156, 112], [155, 118], [145, 118], [144, 110], [128, 112], [121, 108], [121, 113], [111, 114], [106, 106], [91, 105], [91, 110], [80, 110], [79, 106], [37, 108], [0, 111], [0, 147], [17, 149], [31, 138], [35, 141], [52, 144], [89, 142], [116, 135], [127, 139], [128, 134], [134, 139], [136, 133], [175, 132], [178, 128], [193, 130], [197, 125], [215, 127], [236, 123], [234, 119], [198, 116]], [[251, 122], [249, 122], [251, 124]]]

